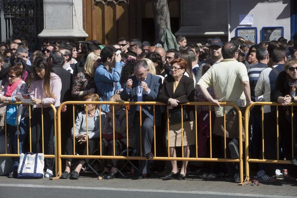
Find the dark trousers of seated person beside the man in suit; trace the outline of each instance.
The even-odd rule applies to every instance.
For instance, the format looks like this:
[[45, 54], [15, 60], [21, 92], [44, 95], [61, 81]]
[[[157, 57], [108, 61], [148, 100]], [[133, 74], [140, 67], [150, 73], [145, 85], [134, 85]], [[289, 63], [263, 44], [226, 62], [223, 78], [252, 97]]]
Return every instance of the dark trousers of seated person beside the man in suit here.
[[[115, 155], [119, 156], [119, 151], [127, 148], [127, 145], [122, 140], [115, 140]], [[100, 155], [100, 142], [97, 145]], [[113, 140], [102, 140], [102, 155], [113, 156]], [[118, 159], [103, 159], [104, 167], [118, 167]]]

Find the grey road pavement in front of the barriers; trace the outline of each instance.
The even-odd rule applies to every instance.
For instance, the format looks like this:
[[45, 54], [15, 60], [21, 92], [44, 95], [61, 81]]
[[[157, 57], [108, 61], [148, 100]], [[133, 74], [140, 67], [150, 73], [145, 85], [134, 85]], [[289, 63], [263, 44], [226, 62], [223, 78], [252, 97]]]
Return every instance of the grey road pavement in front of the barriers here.
[[[98, 180], [93, 174], [81, 174], [78, 180], [11, 179], [0, 176], [0, 197], [297, 197], [297, 181], [279, 180], [238, 186], [228, 178], [201, 180], [163, 180], [136, 177]], [[4, 196], [5, 195], [5, 196]]]

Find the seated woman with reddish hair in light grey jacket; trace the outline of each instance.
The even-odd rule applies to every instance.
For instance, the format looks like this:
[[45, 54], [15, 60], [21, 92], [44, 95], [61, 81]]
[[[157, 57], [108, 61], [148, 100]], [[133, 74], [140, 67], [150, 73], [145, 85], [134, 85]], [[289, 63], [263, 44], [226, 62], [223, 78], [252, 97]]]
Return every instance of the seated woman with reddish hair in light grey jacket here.
[[[84, 101], [99, 101], [99, 96], [97, 94], [89, 94], [84, 97]], [[88, 115], [86, 111], [78, 113], [75, 120], [75, 127], [71, 130], [71, 136], [66, 141], [65, 155], [73, 155], [73, 133], [75, 136], [75, 152], [80, 155], [87, 154], [87, 130], [88, 130], [88, 141], [89, 141], [89, 155], [94, 151], [98, 143], [98, 137], [100, 136], [100, 126], [99, 126], [99, 116], [101, 117], [101, 122], [105, 123], [106, 115], [98, 110], [98, 105], [95, 104], [85, 104], [88, 107]], [[88, 126], [86, 123], [86, 118], [88, 116]], [[101, 126], [103, 129], [103, 124]], [[78, 179], [81, 167], [89, 161], [89, 159], [81, 159], [79, 164], [73, 172], [70, 172], [70, 164], [72, 159], [66, 160], [66, 168], [64, 173], [61, 175], [61, 179]]]

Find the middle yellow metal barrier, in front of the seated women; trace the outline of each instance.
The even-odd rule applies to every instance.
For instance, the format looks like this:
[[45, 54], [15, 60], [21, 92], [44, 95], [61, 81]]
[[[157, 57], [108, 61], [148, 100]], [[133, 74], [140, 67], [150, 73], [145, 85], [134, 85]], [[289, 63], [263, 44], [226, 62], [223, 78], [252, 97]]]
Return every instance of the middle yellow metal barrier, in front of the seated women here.
[[[89, 101], [68, 101], [68, 102], [64, 102], [60, 105], [58, 111], [57, 111], [57, 123], [58, 123], [58, 153], [57, 153], [57, 159], [56, 161], [58, 162], [58, 169], [56, 169], [58, 172], [58, 176], [61, 176], [62, 173], [62, 166], [61, 166], [61, 159], [65, 159], [65, 158], [73, 158], [73, 159], [134, 159], [134, 160], [147, 160], [146, 157], [140, 157], [140, 156], [129, 156], [129, 153], [127, 152], [127, 156], [115, 156], [115, 129], [114, 129], [114, 123], [113, 123], [113, 156], [103, 156], [102, 155], [102, 151], [101, 151], [101, 144], [102, 144], [102, 131], [101, 131], [101, 127], [100, 127], [100, 137], [99, 137], [99, 142], [100, 142], [100, 155], [91, 155], [92, 153], [89, 153], [89, 149], [87, 149], [87, 153], [86, 155], [75, 155], [75, 133], [73, 132], [73, 153], [74, 155], [62, 155], [62, 151], [61, 151], [61, 110], [63, 108], [64, 105], [67, 105], [67, 109], [71, 108], [73, 109], [73, 127], [75, 127], [75, 114], [74, 114], [74, 109], [75, 109], [75, 104], [96, 104], [99, 105], [99, 111], [101, 112], [101, 107], [100, 104], [108, 104], [108, 105], [115, 105], [115, 104], [121, 104], [121, 105], [140, 105], [140, 127], [142, 126], [141, 123], [141, 106], [142, 105], [152, 105], [153, 106], [153, 112], [154, 112], [154, 120], [155, 120], [155, 105], [165, 105], [163, 103], [160, 102], [89, 102]], [[170, 157], [169, 156], [169, 138], [168, 138], [168, 157], [159, 157], [156, 156], [156, 126], [154, 125], [154, 158], [151, 160], [180, 160], [180, 161], [217, 161], [217, 162], [239, 162], [239, 169], [240, 169], [240, 182], [243, 182], [243, 150], [242, 150], [242, 115], [241, 115], [241, 111], [239, 109], [239, 107], [233, 103], [227, 103], [227, 102], [221, 102], [219, 103], [221, 106], [224, 107], [224, 120], [225, 120], [225, 106], [232, 106], [235, 107], [236, 110], [238, 111], [238, 137], [239, 137], [239, 159], [227, 159], [226, 158], [226, 127], [225, 127], [225, 147], [224, 147], [224, 153], [225, 153], [225, 157], [224, 158], [212, 158], [212, 141], [211, 141], [211, 126], [210, 126], [210, 158], [200, 158], [198, 157], [198, 134], [197, 134], [197, 124], [195, 124], [195, 137], [196, 137], [196, 156], [195, 157], [184, 157], [184, 153], [183, 153], [183, 143], [182, 145], [182, 156], [181, 157]], [[206, 105], [209, 106], [209, 121], [210, 121], [210, 125], [211, 125], [211, 106], [215, 106], [216, 104], [214, 103], [209, 103], [209, 102], [189, 102], [186, 104], [181, 105], [181, 108], [183, 108], [184, 105], [193, 105], [195, 106], [195, 123], [197, 123], [197, 105]], [[87, 106], [86, 106], [87, 107]], [[86, 108], [87, 111], [87, 108]], [[181, 113], [183, 111], [181, 110]], [[114, 107], [113, 107], [113, 117], [115, 115], [114, 112]], [[181, 118], [183, 117], [183, 115], [181, 114]], [[86, 122], [88, 122], [88, 120], [86, 119]], [[129, 142], [128, 142], [128, 109], [126, 109], [126, 122], [127, 122], [127, 149], [129, 147]], [[155, 122], [154, 122], [155, 123]], [[101, 126], [102, 121], [101, 121], [101, 117], [99, 116], [99, 126]], [[164, 123], [165, 124], [165, 123]], [[167, 111], [167, 124], [169, 125], [169, 113]], [[86, 125], [88, 126], [88, 123], [86, 123]], [[183, 126], [183, 121], [181, 120], [181, 126]], [[183, 127], [182, 127], [183, 128]], [[141, 130], [141, 128], [140, 128]], [[73, 129], [74, 131], [74, 129]], [[169, 129], [167, 131], [167, 133], [169, 134]], [[183, 133], [183, 131], [182, 131]], [[88, 129], [86, 130], [86, 137], [87, 137], [87, 141], [86, 141], [86, 147], [89, 148], [88, 146]], [[169, 135], [168, 135], [169, 137]], [[183, 134], [182, 134], [183, 137]], [[140, 131], [140, 149], [142, 149], [142, 142], [141, 142], [141, 131]], [[137, 140], [136, 140], [137, 141]], [[182, 139], [183, 142], [183, 139]], [[63, 151], [64, 152], [64, 151]], [[140, 151], [140, 153], [142, 153]]]

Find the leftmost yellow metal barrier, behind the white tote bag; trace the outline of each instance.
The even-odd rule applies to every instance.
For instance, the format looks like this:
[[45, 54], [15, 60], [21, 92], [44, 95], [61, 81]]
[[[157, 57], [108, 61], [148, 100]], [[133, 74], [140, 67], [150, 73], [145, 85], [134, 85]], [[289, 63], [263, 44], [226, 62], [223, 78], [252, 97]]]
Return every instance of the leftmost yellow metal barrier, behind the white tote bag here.
[[[23, 105], [32, 105], [32, 104], [28, 104], [28, 103], [22, 103], [22, 102], [9, 102], [7, 104], [23, 104]], [[55, 136], [55, 155], [47, 155], [45, 154], [44, 157], [45, 158], [56, 158], [57, 156], [57, 125], [56, 125], [56, 107], [54, 107], [53, 104], [50, 104], [50, 107], [53, 109], [53, 112], [54, 112], [54, 136]], [[17, 109], [17, 115], [18, 114], [18, 105], [16, 107]], [[18, 116], [16, 117], [17, 119], [17, 135], [18, 135], [18, 154], [8, 154], [7, 153], [7, 127], [6, 127], [6, 114], [4, 115], [5, 116], [5, 154], [0, 154], [0, 157], [19, 157], [20, 156], [20, 153], [19, 153], [19, 124], [18, 124]], [[31, 142], [31, 117], [32, 117], [32, 113], [31, 113], [31, 108], [29, 108], [29, 143], [30, 143], [30, 152], [32, 152], [32, 142]], [[42, 111], [42, 108], [41, 108], [41, 118], [42, 118], [42, 122], [41, 122], [41, 126], [42, 126], [42, 153], [44, 153], [44, 143], [43, 143], [43, 111]], [[14, 138], [14, 137], [10, 137], [10, 138]], [[55, 163], [55, 167], [56, 167], [56, 170], [57, 170], [57, 161]]]

